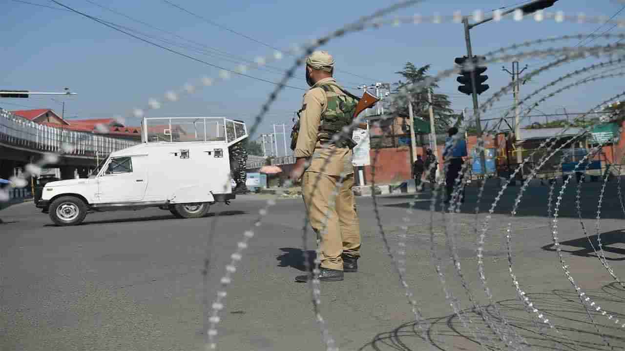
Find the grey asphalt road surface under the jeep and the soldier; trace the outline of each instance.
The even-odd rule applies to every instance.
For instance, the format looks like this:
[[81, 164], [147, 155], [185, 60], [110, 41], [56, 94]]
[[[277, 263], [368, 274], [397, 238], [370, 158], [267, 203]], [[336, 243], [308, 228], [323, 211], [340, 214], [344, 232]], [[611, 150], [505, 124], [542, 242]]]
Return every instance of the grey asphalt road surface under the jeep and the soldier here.
[[[384, 235], [393, 250], [399, 234], [406, 234], [402, 225], [408, 227], [406, 284], [421, 310], [421, 322], [416, 322], [386, 253], [372, 198], [359, 198], [360, 271], [346, 274], [342, 282], [321, 285], [320, 312], [339, 349], [484, 350], [505, 348], [507, 342], [538, 350], [625, 347], [625, 328], [620, 326], [625, 322], [625, 289], [590, 249], [577, 219], [574, 193], [562, 199], [558, 235], [574, 281], [595, 303], [591, 317], [552, 245], [546, 188], [530, 188], [511, 219], [517, 190], [504, 194], [486, 232], [484, 270], [492, 304], [477, 272], [475, 189], [467, 190], [462, 213], [452, 216], [449, 236], [441, 214], [434, 214], [434, 251], [429, 194], [416, 201], [405, 224], [410, 196], [378, 199]], [[584, 185], [582, 221], [590, 235], [596, 235], [598, 194], [599, 184]], [[491, 204], [495, 196], [487, 190], [484, 203]], [[599, 232], [606, 262], [618, 277], [625, 268], [625, 239], [616, 183], [607, 186], [605, 196]], [[293, 281], [304, 270], [302, 202], [277, 199], [261, 225], [254, 227], [267, 199], [238, 197], [230, 206], [214, 206], [213, 215], [204, 219], [174, 219], [158, 209], [90, 214], [76, 227], [54, 227], [32, 203], [2, 210], [0, 349], [204, 350], [204, 321], [210, 309], [206, 300], [210, 304], [215, 299], [230, 255], [251, 228], [255, 236], [232, 274], [220, 313], [217, 349], [324, 349], [308, 286]], [[481, 222], [487, 215], [484, 208]], [[537, 312], [527, 311], [512, 285], [504, 237], [509, 222], [514, 229], [513, 273]], [[593, 240], [598, 247], [596, 237]], [[450, 243], [457, 249], [471, 295], [450, 263]], [[312, 235], [308, 245], [314, 249]], [[210, 269], [204, 284], [206, 257]], [[599, 305], [601, 310], [594, 310]], [[607, 319], [603, 311], [614, 317]], [[545, 318], [555, 328], [545, 327]], [[614, 324], [615, 319], [622, 322]]]

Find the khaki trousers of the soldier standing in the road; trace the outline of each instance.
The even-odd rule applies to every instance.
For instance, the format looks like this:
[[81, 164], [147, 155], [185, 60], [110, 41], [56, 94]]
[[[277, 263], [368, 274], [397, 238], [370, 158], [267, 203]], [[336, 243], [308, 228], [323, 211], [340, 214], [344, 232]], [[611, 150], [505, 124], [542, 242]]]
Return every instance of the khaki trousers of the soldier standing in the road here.
[[[323, 268], [343, 270], [341, 254], [360, 257], [360, 224], [353, 186], [354, 174], [341, 178], [304, 172], [302, 176], [302, 197], [311, 227], [317, 234]], [[333, 194], [335, 190], [337, 195]]]

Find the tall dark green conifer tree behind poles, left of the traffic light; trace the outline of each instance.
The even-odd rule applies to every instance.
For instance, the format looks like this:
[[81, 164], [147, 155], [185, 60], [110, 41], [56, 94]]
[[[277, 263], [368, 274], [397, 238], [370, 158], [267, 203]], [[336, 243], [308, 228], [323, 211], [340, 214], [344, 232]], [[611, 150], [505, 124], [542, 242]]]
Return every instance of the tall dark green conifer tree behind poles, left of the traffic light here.
[[434, 112], [434, 126], [437, 132], [445, 132], [447, 128], [459, 126], [462, 122], [462, 115], [454, 114], [454, 111], [449, 108], [451, 101], [446, 94], [436, 94], [434, 89], [438, 88], [436, 81], [428, 87], [422, 87], [417, 89], [414, 85], [424, 82], [426, 79], [432, 77], [427, 75], [430, 65], [417, 68], [412, 62], [406, 62], [404, 69], [399, 72], [395, 72], [404, 78], [393, 84], [393, 93], [397, 94], [395, 99], [392, 99], [390, 103], [390, 109], [392, 113], [403, 114], [408, 116], [408, 98], [406, 92], [412, 97], [412, 113], [415, 117], [420, 117], [425, 121], [429, 121], [429, 101], [427, 98], [427, 91], [432, 94], [432, 110]]

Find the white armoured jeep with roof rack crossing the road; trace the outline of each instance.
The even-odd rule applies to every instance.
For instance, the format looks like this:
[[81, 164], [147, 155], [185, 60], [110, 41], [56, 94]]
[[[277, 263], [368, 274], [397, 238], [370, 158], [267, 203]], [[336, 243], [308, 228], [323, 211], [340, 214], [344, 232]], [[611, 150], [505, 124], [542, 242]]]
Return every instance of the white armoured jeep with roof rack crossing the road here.
[[80, 224], [88, 212], [147, 207], [169, 210], [180, 218], [203, 217], [211, 204], [235, 198], [228, 147], [245, 137], [143, 142], [112, 152], [88, 179], [47, 183], [36, 207], [57, 225]]

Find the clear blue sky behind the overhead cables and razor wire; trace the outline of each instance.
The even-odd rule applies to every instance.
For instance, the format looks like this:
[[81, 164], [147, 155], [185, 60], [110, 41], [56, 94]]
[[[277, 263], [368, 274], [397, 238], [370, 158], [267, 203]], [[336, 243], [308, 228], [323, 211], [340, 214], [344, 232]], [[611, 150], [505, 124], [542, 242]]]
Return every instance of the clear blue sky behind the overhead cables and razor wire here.
[[[54, 2], [46, 0], [25, 1], [59, 7]], [[269, 47], [212, 26], [163, 1], [93, 1], [106, 4], [111, 9], [147, 22], [151, 26], [174, 32], [184, 39], [203, 44], [204, 52], [193, 51], [188, 46], [189, 42], [186, 42], [184, 48], [173, 46], [172, 42], [179, 44], [183, 39], [133, 22], [86, 0], [59, 0], [92, 16], [154, 36], [150, 40], [159, 44], [229, 69], [236, 69], [238, 66], [231, 61], [240, 62], [241, 58], [254, 60], [257, 56], [272, 53]], [[425, 16], [438, 12], [447, 15], [457, 10], [469, 14], [475, 9], [489, 11], [501, 6], [514, 5], [519, 1], [521, 0], [471, 2], [431, 0], [402, 9], [396, 14], [411, 16], [419, 13]], [[221, 26], [279, 48], [288, 48], [292, 44], [302, 44], [319, 37], [346, 22], [376, 11], [384, 4], [382, 1], [370, 0], [317, 0], [314, 6], [303, 1], [287, 0], [273, 2], [171, 0], [171, 2]], [[592, 7], [589, 6], [591, 3]], [[559, 0], [550, 10], [561, 9], [567, 14], [585, 12], [589, 16], [609, 17], [623, 6], [616, 0], [592, 2]], [[62, 99], [66, 101], [66, 117], [103, 118], [111, 117], [113, 114], [128, 117], [131, 109], [146, 106], [151, 97], [162, 101], [164, 92], [180, 89], [187, 82], [197, 84], [202, 76], [216, 77], [219, 72], [214, 67], [150, 46], [73, 12], [13, 0], [2, 0], [0, 12], [3, 34], [0, 42], [2, 49], [0, 87], [38, 91], [63, 91], [64, 87], [69, 87], [77, 92], [78, 96], [57, 98], [59, 101]], [[625, 16], [625, 11], [616, 18], [622, 19], [621, 16]], [[503, 21], [489, 22], [476, 27], [472, 29], [471, 35], [474, 53], [483, 54], [501, 46], [531, 39], [590, 33], [597, 27], [599, 24], [592, 23]], [[603, 26], [597, 33], [604, 32], [610, 27]], [[610, 31], [612, 34], [621, 32], [622, 29], [619, 27]], [[164, 44], [161, 39], [166, 39], [169, 43]], [[597, 39], [592, 45], [615, 41], [616, 39], [612, 41]], [[575, 44], [577, 41], [569, 41], [559, 46]], [[238, 57], [218, 56], [214, 51], [209, 52], [206, 47]], [[370, 78], [366, 80], [345, 72], [337, 72], [337, 79], [347, 87], [363, 83], [372, 84], [375, 81], [395, 82], [399, 76], [394, 72], [399, 71], [406, 61], [414, 62], [417, 66], [431, 64], [431, 73], [436, 74], [453, 67], [454, 57], [466, 53], [462, 26], [455, 23], [406, 24], [399, 27], [369, 29], [333, 40], [323, 49], [334, 55], [337, 69]], [[603, 60], [591, 57], [583, 62], [541, 75], [536, 81], [522, 86], [521, 94], [528, 94], [572, 69]], [[272, 63], [272, 66], [285, 69], [293, 61], [293, 57], [286, 56], [281, 61]], [[545, 61], [544, 58], [525, 59], [521, 61], [521, 66], [527, 64], [529, 69], [532, 69]], [[510, 81], [510, 76], [501, 70], [501, 66], [502, 64], [489, 66], [486, 74], [489, 76], [487, 83], [491, 89], [482, 94], [481, 101], [485, 101], [488, 96]], [[506, 67], [511, 69], [511, 64], [506, 64]], [[298, 76], [289, 81], [291, 86], [307, 87], [303, 71], [303, 67], [297, 70]], [[248, 71], [247, 74], [270, 81], [278, 81], [281, 78], [279, 72]], [[546, 102], [539, 109], [546, 113], [556, 112], [557, 109], [562, 112], [561, 107], [565, 106], [569, 112], [585, 111], [597, 102], [619, 92], [619, 89], [622, 89], [622, 82], [622, 78], [611, 79], [574, 89]], [[440, 83], [440, 92], [449, 94], [453, 102], [452, 108], [470, 109], [471, 98], [457, 92], [457, 85], [455, 76], [449, 77]], [[205, 87], [201, 92], [184, 97], [178, 102], [168, 102], [162, 109], [151, 111], [150, 116], [227, 116], [250, 122], [272, 89], [274, 86], [266, 82], [232, 76], [229, 82]], [[276, 103], [272, 105], [260, 132], [271, 131], [272, 123], [285, 122], [288, 126], [292, 111], [299, 109], [303, 92], [296, 89], [282, 91]], [[511, 104], [510, 94], [499, 102], [495, 106], [496, 110], [487, 117], [499, 116], [501, 109]], [[51, 101], [49, 97], [2, 99], [0, 107], [6, 109], [49, 107], [59, 113], [61, 111], [61, 104]], [[127, 119], [127, 124], [138, 126], [139, 121], [130, 118]]]

